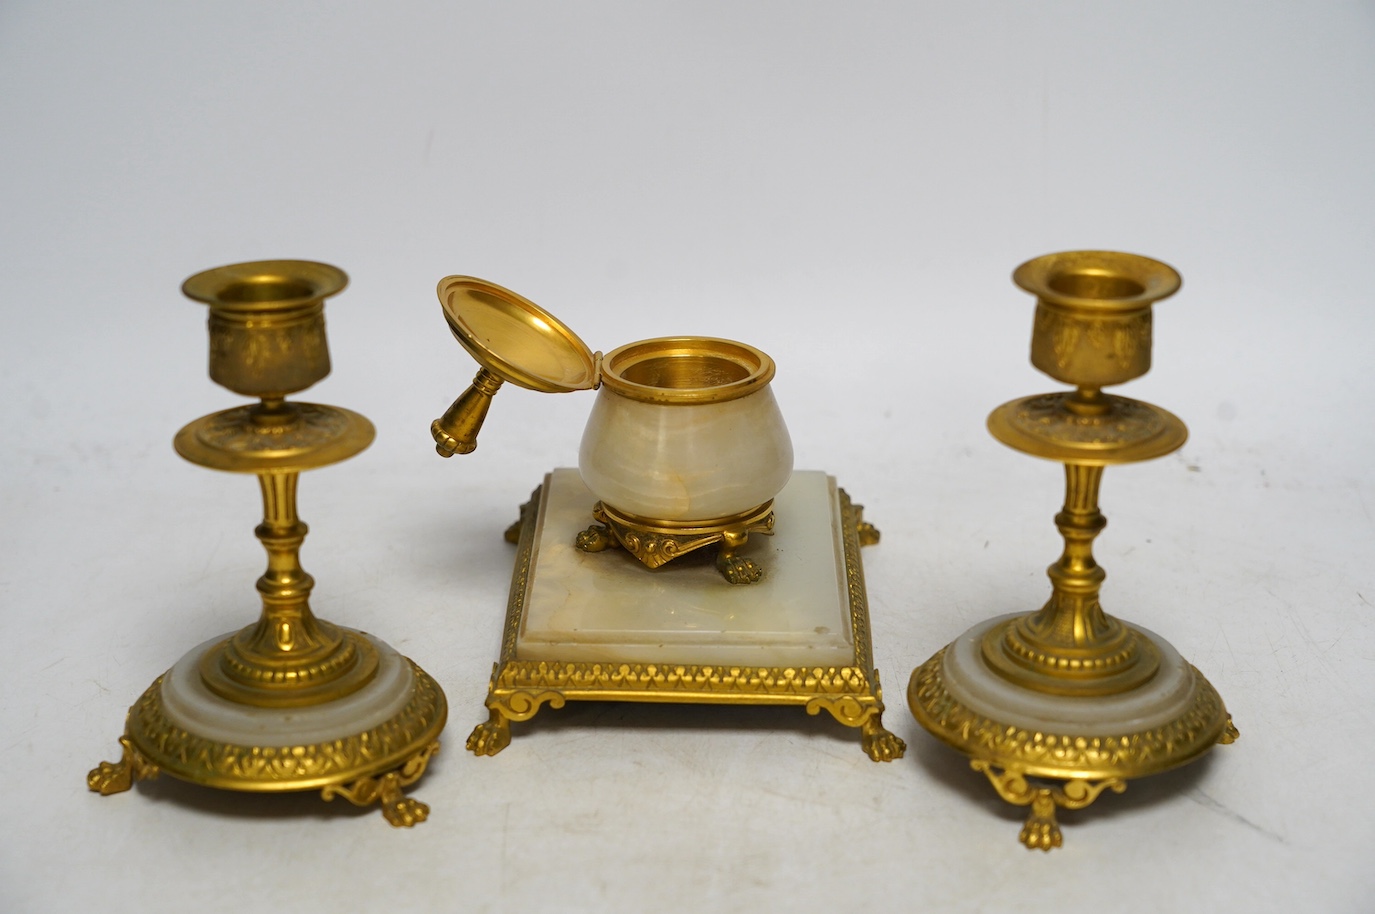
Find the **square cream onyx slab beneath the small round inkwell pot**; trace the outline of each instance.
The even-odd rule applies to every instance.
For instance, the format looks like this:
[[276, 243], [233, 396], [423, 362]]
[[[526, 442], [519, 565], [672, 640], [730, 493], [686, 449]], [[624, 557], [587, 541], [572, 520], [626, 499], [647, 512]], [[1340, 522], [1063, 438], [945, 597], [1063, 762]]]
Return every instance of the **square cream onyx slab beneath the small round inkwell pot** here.
[[710, 548], [653, 570], [619, 550], [575, 548], [597, 500], [578, 470], [550, 473], [542, 499], [517, 658], [854, 662], [839, 500], [835, 480], [825, 473], [793, 473], [774, 502], [776, 535], [752, 536], [741, 548], [741, 555], [767, 569], [751, 587], [722, 580]]

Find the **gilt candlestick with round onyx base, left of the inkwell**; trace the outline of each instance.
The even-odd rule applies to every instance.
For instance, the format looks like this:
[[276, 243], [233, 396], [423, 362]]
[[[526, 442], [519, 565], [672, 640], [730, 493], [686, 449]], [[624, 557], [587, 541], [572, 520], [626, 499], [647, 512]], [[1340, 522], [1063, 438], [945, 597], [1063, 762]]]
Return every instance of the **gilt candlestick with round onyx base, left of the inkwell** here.
[[260, 261], [183, 285], [210, 306], [210, 378], [260, 399], [191, 422], [175, 447], [192, 463], [258, 477], [263, 610], [253, 625], [192, 649], [143, 693], [120, 738], [122, 757], [91, 771], [92, 790], [118, 793], [165, 771], [226, 790], [380, 803], [396, 826], [426, 818], [429, 808], [402, 789], [439, 752], [444, 693], [385, 642], [316, 618], [315, 581], [298, 557], [301, 470], [348, 459], [374, 436], [356, 412], [286, 400], [329, 374], [324, 300], [346, 283], [327, 264]]

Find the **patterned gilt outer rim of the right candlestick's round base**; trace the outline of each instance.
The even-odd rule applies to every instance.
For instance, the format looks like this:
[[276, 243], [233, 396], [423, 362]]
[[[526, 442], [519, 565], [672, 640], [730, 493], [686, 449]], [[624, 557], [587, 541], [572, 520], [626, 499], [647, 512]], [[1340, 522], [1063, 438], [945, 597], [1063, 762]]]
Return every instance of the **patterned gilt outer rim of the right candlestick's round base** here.
[[942, 675], [946, 650], [912, 672], [912, 713], [946, 745], [1000, 768], [1040, 778], [1141, 778], [1187, 764], [1226, 735], [1222, 698], [1192, 665], [1192, 700], [1174, 720], [1137, 733], [1059, 734], [993, 720], [956, 701]]

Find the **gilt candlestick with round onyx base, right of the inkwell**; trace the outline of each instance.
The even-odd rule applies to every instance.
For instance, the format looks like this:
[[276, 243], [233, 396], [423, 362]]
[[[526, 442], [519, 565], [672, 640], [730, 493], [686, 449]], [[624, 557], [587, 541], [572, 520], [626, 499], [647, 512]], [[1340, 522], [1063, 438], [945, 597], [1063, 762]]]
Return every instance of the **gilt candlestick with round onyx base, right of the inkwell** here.
[[[1037, 297], [1031, 364], [1075, 390], [1024, 397], [989, 416], [996, 438], [1064, 463], [1064, 537], [1040, 612], [975, 625], [912, 673], [923, 727], [971, 756], [1004, 800], [1030, 805], [1028, 848], [1060, 847], [1055, 810], [1078, 810], [1126, 781], [1181, 766], [1238, 733], [1203, 675], [1160, 636], [1108, 616], [1093, 539], [1103, 467], [1163, 456], [1184, 423], [1103, 388], [1151, 367], [1151, 305], [1173, 296], [1170, 267], [1114, 252], [1048, 254], [1013, 282]], [[1031, 778], [1062, 781], [1035, 783]]]

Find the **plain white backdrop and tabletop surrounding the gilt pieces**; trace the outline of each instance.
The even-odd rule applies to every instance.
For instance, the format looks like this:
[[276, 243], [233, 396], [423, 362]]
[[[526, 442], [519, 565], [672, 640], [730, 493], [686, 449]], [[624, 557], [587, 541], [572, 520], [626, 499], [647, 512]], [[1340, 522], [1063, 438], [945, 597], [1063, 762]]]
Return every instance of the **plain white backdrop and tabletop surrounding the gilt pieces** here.
[[[0, 7], [0, 909], [6, 911], [1370, 910], [1375, 803], [1375, 11], [1370, 3], [45, 3]], [[906, 709], [914, 665], [1035, 609], [1055, 465], [986, 414], [1056, 383], [1008, 275], [1052, 250], [1184, 275], [1122, 393], [1191, 426], [1112, 469], [1110, 612], [1163, 634], [1242, 739], [1016, 843]], [[412, 830], [314, 796], [100, 799], [124, 712], [252, 621], [252, 480], [173, 433], [206, 378], [190, 274], [342, 267], [334, 374], [377, 423], [311, 473], [316, 610], [451, 701]], [[495, 759], [512, 547], [591, 394], [503, 390], [481, 447], [432, 418], [474, 364], [434, 283], [514, 287], [597, 349], [774, 356], [799, 467], [865, 551], [879, 766], [798, 711], [569, 706]]]

